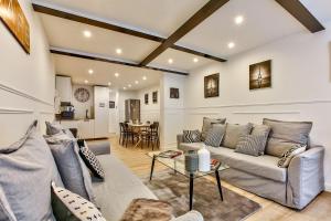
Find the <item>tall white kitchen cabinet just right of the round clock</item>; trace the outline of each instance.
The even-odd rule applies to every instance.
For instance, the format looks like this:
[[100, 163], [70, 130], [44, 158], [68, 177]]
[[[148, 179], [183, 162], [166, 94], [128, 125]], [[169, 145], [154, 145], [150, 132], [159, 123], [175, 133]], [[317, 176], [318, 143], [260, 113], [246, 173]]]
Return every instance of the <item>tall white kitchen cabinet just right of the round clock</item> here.
[[109, 136], [109, 88], [94, 86], [94, 137]]

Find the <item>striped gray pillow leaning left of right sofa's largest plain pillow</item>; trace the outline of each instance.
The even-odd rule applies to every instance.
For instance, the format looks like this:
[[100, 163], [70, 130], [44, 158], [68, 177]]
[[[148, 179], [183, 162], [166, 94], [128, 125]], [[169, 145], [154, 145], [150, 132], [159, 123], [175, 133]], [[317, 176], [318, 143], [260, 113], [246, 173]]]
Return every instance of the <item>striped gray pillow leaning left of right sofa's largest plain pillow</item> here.
[[265, 139], [264, 135], [244, 135], [239, 138], [235, 152], [258, 157], [265, 145]]

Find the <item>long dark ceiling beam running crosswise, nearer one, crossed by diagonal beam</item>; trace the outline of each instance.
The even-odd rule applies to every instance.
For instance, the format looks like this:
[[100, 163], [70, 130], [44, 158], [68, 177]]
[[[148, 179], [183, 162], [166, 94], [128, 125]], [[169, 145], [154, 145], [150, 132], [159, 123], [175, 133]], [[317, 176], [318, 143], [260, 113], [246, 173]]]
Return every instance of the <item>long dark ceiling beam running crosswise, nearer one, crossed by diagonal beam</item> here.
[[[53, 17], [57, 17], [57, 18], [62, 18], [62, 19], [67, 19], [71, 21], [75, 21], [75, 22], [79, 22], [79, 23], [84, 23], [84, 24], [88, 24], [88, 25], [93, 25], [93, 27], [97, 27], [97, 28], [102, 28], [102, 29], [107, 29], [110, 31], [115, 31], [115, 32], [119, 32], [119, 33], [124, 33], [124, 34], [128, 34], [128, 35], [137, 36], [137, 38], [141, 38], [141, 39], [147, 39], [147, 40], [154, 41], [154, 42], [162, 43], [166, 41], [166, 39], [163, 39], [161, 36], [152, 35], [152, 34], [143, 33], [143, 32], [136, 31], [132, 29], [128, 29], [128, 28], [115, 25], [111, 23], [98, 21], [95, 19], [89, 19], [86, 17], [68, 13], [65, 11], [52, 9], [49, 7], [41, 6], [41, 4], [33, 3], [32, 6], [33, 6], [34, 11], [40, 12], [40, 13], [44, 13], [44, 14], [49, 14], [49, 15], [53, 15]], [[226, 62], [225, 59], [205, 54], [203, 52], [194, 51], [194, 50], [191, 50], [191, 49], [188, 49], [184, 46], [172, 45], [171, 48], [174, 50], [178, 50], [178, 51], [186, 52], [186, 53], [194, 54], [197, 56], [203, 56], [203, 57], [214, 60], [217, 62]]]

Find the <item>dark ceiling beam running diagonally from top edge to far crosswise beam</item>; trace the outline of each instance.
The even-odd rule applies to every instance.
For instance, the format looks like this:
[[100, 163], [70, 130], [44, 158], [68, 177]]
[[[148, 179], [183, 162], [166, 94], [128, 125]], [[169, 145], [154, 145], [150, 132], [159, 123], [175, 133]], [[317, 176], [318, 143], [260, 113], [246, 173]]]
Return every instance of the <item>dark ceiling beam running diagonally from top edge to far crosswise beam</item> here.
[[206, 18], [213, 14], [217, 9], [223, 7], [229, 0], [210, 0], [204, 7], [195, 12], [185, 23], [183, 23], [178, 30], [175, 30], [161, 45], [159, 45], [153, 52], [151, 52], [140, 64], [147, 65], [159, 56], [167, 49], [174, 45], [174, 43], [182, 36], [188, 34], [192, 29], [197, 27]]

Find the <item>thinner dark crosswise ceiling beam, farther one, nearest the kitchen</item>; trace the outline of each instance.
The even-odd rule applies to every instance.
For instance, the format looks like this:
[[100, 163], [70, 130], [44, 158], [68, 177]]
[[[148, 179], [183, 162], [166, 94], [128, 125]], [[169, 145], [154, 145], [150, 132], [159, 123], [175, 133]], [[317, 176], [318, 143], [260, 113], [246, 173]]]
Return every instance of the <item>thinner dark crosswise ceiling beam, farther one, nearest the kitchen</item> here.
[[85, 54], [85, 53], [72, 52], [72, 51], [68, 52], [66, 50], [60, 50], [60, 49], [51, 49], [50, 52], [52, 54], [72, 56], [72, 57], [77, 57], [77, 59], [85, 59], [85, 60], [90, 60], [90, 61], [106, 62], [106, 63], [111, 63], [111, 64], [120, 64], [120, 65], [139, 67], [139, 69], [148, 69], [148, 70], [154, 70], [154, 71], [160, 71], [160, 72], [168, 72], [168, 73], [179, 74], [179, 75], [189, 75], [189, 73], [186, 73], [186, 72], [179, 72], [179, 71], [167, 70], [167, 69], [159, 69], [159, 67], [153, 67], [153, 66], [145, 66], [145, 65], [135, 64], [135, 63], [130, 63], [130, 62], [124, 62], [124, 61], [117, 61], [117, 60], [111, 60], [111, 59], [105, 59], [105, 57], [100, 57], [100, 56], [94, 55], [94, 54]]

